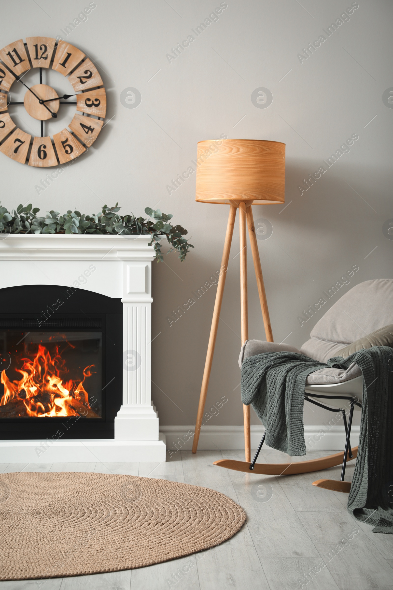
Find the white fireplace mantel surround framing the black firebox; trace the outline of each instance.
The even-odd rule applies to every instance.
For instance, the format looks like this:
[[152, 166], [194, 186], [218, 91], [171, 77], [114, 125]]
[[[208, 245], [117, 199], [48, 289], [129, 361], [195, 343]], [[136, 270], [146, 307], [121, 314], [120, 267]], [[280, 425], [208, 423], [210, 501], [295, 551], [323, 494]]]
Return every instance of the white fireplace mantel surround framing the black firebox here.
[[1, 440], [0, 463], [165, 461], [165, 437], [151, 401], [149, 241], [144, 235], [0, 234], [0, 289], [76, 287], [123, 303], [123, 404], [114, 439]]

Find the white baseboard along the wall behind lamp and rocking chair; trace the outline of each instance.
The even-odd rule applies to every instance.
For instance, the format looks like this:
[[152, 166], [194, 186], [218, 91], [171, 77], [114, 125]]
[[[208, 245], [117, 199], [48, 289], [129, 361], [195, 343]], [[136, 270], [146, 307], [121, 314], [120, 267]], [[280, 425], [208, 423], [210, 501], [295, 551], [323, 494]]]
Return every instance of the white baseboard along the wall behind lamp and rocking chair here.
[[[194, 426], [160, 426], [166, 435], [167, 450], [187, 450], [192, 448]], [[359, 426], [352, 426], [351, 445], [359, 440]], [[265, 428], [262, 425], [251, 427], [251, 448], [257, 448]], [[345, 446], [344, 426], [305, 426], [305, 442], [308, 450], [341, 451]], [[200, 431], [198, 448], [200, 450], [241, 450], [245, 448], [242, 426], [203, 426]], [[270, 448], [270, 447], [266, 447]]]

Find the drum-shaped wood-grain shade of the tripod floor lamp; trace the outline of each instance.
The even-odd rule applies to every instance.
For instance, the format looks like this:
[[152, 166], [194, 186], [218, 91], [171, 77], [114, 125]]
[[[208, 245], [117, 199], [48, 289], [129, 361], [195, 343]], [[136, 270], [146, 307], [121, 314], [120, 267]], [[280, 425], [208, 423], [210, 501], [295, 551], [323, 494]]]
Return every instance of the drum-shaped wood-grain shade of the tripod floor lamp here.
[[198, 142], [196, 201], [237, 205], [283, 203], [285, 143], [259, 139]]

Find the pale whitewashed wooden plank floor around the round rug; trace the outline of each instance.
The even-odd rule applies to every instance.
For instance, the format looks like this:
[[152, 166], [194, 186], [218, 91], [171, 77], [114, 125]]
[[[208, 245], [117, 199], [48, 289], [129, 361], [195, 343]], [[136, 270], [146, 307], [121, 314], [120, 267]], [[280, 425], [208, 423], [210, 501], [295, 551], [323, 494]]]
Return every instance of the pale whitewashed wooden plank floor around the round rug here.
[[[333, 451], [335, 452], [335, 451]], [[326, 451], [310, 451], [306, 458]], [[339, 479], [340, 468], [299, 476], [259, 476], [213, 466], [244, 460], [244, 451], [179, 451], [167, 463], [2, 464], [0, 472], [96, 471], [157, 477], [210, 487], [242, 506], [247, 521], [226, 543], [206, 552], [131, 571], [75, 578], [0, 582], [0, 590], [366, 590], [393, 588], [393, 535], [375, 535], [346, 511], [348, 496], [312, 481]], [[260, 461], [288, 456], [265, 450]], [[303, 457], [292, 457], [303, 460]], [[346, 480], [354, 467], [348, 464]], [[1, 543], [1, 540], [0, 540]], [[180, 572], [180, 568], [186, 573]]]

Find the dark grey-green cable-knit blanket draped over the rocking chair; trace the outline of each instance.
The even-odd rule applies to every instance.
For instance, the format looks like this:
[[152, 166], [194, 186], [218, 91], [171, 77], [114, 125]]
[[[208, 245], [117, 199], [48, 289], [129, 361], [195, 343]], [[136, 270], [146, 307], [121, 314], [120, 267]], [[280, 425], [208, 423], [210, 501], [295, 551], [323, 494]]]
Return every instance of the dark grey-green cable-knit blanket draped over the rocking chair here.
[[307, 376], [329, 366], [363, 373], [364, 394], [358, 457], [348, 511], [393, 534], [393, 349], [374, 346], [346, 359], [320, 363], [293, 352], [265, 352], [242, 364], [242, 401], [252, 404], [266, 428], [266, 444], [289, 455], [305, 455], [304, 390]]

